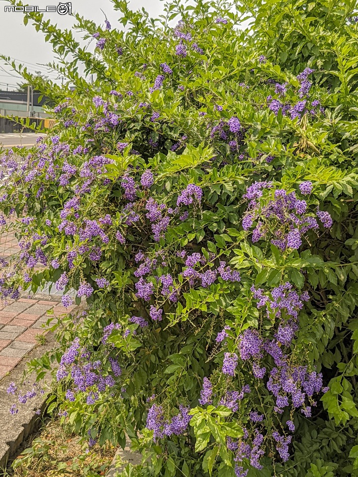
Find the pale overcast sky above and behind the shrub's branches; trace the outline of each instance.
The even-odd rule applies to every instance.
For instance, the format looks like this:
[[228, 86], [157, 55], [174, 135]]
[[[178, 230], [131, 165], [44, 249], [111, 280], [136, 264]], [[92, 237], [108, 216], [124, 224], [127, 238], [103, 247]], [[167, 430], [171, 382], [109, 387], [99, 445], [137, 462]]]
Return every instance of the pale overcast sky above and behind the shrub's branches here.
[[[62, 0], [64, 3], [67, 0]], [[26, 0], [24, 4], [37, 5], [44, 8], [46, 5], [58, 5], [59, 0]], [[113, 27], [122, 27], [118, 23], [119, 12], [113, 10], [110, 0], [72, 0], [72, 11], [80, 13], [96, 24], [104, 24], [104, 16], [101, 9], [106, 14]], [[5, 0], [0, 0], [0, 54], [10, 56], [26, 64], [30, 72], [44, 70], [36, 64], [46, 64], [53, 61], [53, 53], [50, 44], [46, 44], [41, 32], [36, 32], [30, 22], [23, 24], [23, 14], [20, 12], [4, 12], [4, 6], [8, 5]], [[130, 0], [129, 7], [132, 10], [145, 7], [152, 17], [158, 18], [163, 13], [164, 3], [160, 0]], [[69, 15], [59, 15], [55, 12], [44, 13], [53, 23], [57, 23], [60, 28], [71, 28], [73, 17]], [[27, 62], [27, 63], [25, 63]], [[6, 70], [3, 71], [1, 68]], [[0, 60], [0, 89], [13, 89], [21, 78], [11, 72], [11, 69]], [[51, 77], [51, 76], [50, 76]], [[51, 77], [52, 78], [52, 77]], [[12, 86], [11, 86], [12, 85]]]

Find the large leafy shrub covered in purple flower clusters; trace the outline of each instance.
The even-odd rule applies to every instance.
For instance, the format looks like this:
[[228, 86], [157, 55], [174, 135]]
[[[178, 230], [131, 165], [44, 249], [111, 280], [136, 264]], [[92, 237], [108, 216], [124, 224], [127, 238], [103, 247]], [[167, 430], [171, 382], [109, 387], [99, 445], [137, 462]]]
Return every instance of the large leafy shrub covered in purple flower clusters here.
[[2, 156], [0, 293], [87, 302], [38, 376], [89, 445], [130, 437], [123, 476], [358, 475], [353, 6], [113, 6], [125, 33], [76, 17], [93, 55], [25, 17], [75, 90], [18, 69], [57, 125]]

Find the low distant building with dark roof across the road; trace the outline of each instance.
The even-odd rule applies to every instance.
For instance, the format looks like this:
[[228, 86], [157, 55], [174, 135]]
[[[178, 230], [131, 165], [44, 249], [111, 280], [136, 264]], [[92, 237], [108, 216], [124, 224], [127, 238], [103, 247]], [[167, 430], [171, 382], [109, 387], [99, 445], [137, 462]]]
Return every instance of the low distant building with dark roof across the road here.
[[[40, 96], [42, 96], [40, 100]], [[49, 99], [39, 92], [33, 93], [33, 105], [31, 105], [30, 94], [30, 117], [32, 118], [48, 118], [49, 114], [45, 113], [43, 105]], [[0, 116], [27, 116], [27, 92], [23, 91], [0, 91]]]

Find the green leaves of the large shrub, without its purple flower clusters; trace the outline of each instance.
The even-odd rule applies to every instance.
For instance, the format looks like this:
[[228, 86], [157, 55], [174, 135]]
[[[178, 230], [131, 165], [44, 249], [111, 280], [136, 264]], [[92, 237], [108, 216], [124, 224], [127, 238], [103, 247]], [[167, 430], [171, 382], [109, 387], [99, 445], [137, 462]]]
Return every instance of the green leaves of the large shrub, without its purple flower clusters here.
[[[30, 285], [16, 270], [11, 284], [36, 291], [68, 272], [66, 291], [78, 290], [84, 280], [94, 289], [87, 300], [87, 315], [59, 320], [54, 325], [59, 349], [31, 363], [32, 367], [38, 369], [40, 379], [52, 363], [61, 361], [76, 337], [93, 361], [102, 363], [104, 374], [111, 373], [109, 357], [119, 360], [121, 376], [95, 403], [89, 404], [85, 393], [66, 400], [70, 377], [56, 384], [55, 393], [68, 412], [63, 419], [84, 438], [124, 447], [126, 435], [130, 437], [133, 449], [143, 454], [143, 465], [128, 466], [123, 476], [234, 476], [235, 453], [227, 438], [241, 442], [244, 428], [252, 425], [250, 411], [264, 416], [257, 429], [264, 434], [266, 456], [262, 470], [244, 460], [249, 477], [358, 476], [358, 35], [352, 19], [356, 1], [254, 0], [235, 5], [173, 1], [158, 20], [145, 11], [131, 11], [126, 1], [112, 3], [125, 32], [105, 30], [76, 15], [76, 28], [86, 39], [97, 33], [105, 39], [103, 49], [96, 48], [94, 54], [80, 47], [72, 31], [60, 31], [43, 14], [25, 16], [25, 23], [32, 23], [52, 44], [59, 58], [53, 66], [68, 79], [64, 88], [31, 78], [21, 65], [13, 65], [24, 79], [62, 105], [50, 134], [58, 134], [69, 152], [51, 149], [48, 139], [43, 157], [38, 148], [31, 151], [35, 159], [27, 163], [26, 173], [37, 171], [31, 180], [16, 171], [1, 185], [8, 194], [1, 202], [4, 216], [13, 207], [17, 218], [34, 218], [30, 225], [17, 220], [5, 229], [13, 227], [19, 239], [31, 242], [29, 253], [41, 243], [41, 237], [31, 239], [35, 233], [47, 236], [42, 245], [48, 263], [53, 259], [60, 263], [58, 268], [32, 271]], [[227, 23], [217, 23], [218, 17]], [[238, 26], [245, 18], [251, 26], [242, 31]], [[181, 32], [191, 34], [186, 57], [176, 54], [179, 38], [173, 33], [173, 22], [179, 19]], [[262, 55], [266, 60], [260, 60]], [[173, 73], [151, 91], [163, 73], [163, 63]], [[93, 84], [78, 73], [80, 65], [86, 75], [94, 75]], [[310, 77], [313, 84], [309, 95], [302, 96], [297, 75], [307, 67], [315, 70]], [[284, 98], [275, 92], [276, 83], [286, 84]], [[75, 91], [69, 84], [75, 85]], [[120, 93], [120, 99], [110, 94], [112, 90]], [[101, 123], [106, 115], [93, 105], [95, 96], [107, 101], [106, 107], [118, 116], [113, 127]], [[282, 102], [277, 114], [269, 107], [268, 96]], [[306, 109], [292, 117], [290, 108], [303, 97]], [[314, 100], [322, 110], [314, 109]], [[152, 120], [153, 113], [159, 117]], [[232, 117], [240, 120], [240, 138], [227, 127]], [[222, 125], [226, 136], [220, 134]], [[230, 145], [230, 140], [235, 144]], [[88, 151], [75, 153], [78, 146]], [[80, 171], [97, 156], [110, 163], [93, 174], [87, 190], [88, 176]], [[45, 165], [39, 165], [41, 158]], [[55, 169], [58, 166], [62, 172], [65, 160], [76, 172], [61, 183]], [[123, 217], [129, 200], [122, 181], [128, 173], [139, 185], [146, 169], [154, 172], [154, 184], [150, 191], [138, 187], [133, 201], [140, 220], [128, 225]], [[332, 227], [309, 230], [300, 246], [280, 249], [271, 239], [285, 220], [263, 213], [260, 220], [267, 238], [255, 240], [250, 228], [243, 227], [248, 210], [244, 195], [248, 186], [264, 181], [270, 181], [272, 188], [258, 198], [262, 210], [275, 191], [299, 196], [299, 185], [312, 182], [312, 193], [299, 196], [306, 200], [307, 216], [326, 211]], [[188, 184], [200, 187], [201, 201], [186, 209], [186, 219], [174, 219], [158, 240], [153, 239], [146, 201], [154, 198], [166, 210], [175, 209]], [[111, 216], [108, 245], [63, 230], [60, 213], [73, 197], [80, 197], [79, 217], [71, 215], [78, 227], [84, 220]], [[118, 231], [125, 243], [115, 239]], [[101, 258], [91, 260], [85, 252], [79, 253], [70, 267], [68, 250], [84, 245], [100, 246]], [[146, 277], [156, 290], [150, 303], [136, 294], [135, 255], [140, 249], [161, 262]], [[225, 261], [240, 272], [241, 281], [218, 277], [208, 286], [191, 286], [181, 273], [184, 264], [178, 254], [183, 249], [205, 258], [205, 265], [198, 266], [200, 272]], [[160, 293], [155, 278], [169, 273], [173, 287], [180, 289], [177, 302]], [[96, 285], [102, 277], [109, 282], [106, 288]], [[266, 314], [257, 307], [252, 286], [269, 294], [287, 281], [298, 293], [307, 291], [310, 296], [300, 310], [294, 342], [287, 346], [290, 366], [302, 364], [322, 373], [324, 385], [329, 386], [323, 395], [307, 400], [310, 418], [293, 408], [282, 415], [276, 412], [267, 378], [256, 379], [248, 362], [240, 361], [233, 379], [221, 372], [224, 353], [237, 352], [245, 330], [259, 330], [268, 340], [277, 328], [274, 310]], [[150, 318], [151, 305], [161, 308], [162, 321]], [[148, 328], [129, 321], [132, 316], [148, 320]], [[121, 327], [103, 343], [103, 328], [109, 323]], [[219, 345], [215, 338], [225, 325], [230, 330]], [[272, 369], [272, 363], [271, 359], [265, 365]], [[251, 393], [244, 395], [235, 411], [217, 402], [204, 407], [198, 399], [206, 377], [212, 377], [217, 398], [240, 391], [244, 384], [250, 385]], [[178, 414], [180, 405], [190, 408], [192, 417], [184, 433], [153, 439], [153, 430], [146, 428], [152, 395], [163, 407], [163, 419]], [[278, 430], [287, 436], [287, 420], [294, 421], [296, 431], [289, 446], [291, 457], [284, 462], [271, 434]]]

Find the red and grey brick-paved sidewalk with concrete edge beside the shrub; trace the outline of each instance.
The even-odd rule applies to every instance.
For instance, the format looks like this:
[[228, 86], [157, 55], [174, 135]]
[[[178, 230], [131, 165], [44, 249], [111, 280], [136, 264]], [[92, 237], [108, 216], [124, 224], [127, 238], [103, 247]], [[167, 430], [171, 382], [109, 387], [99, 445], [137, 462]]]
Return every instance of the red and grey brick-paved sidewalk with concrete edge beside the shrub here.
[[[1, 234], [0, 230], [0, 257], [6, 259], [17, 251], [19, 247], [13, 233]], [[41, 265], [36, 269], [41, 269]], [[6, 390], [12, 381], [21, 382], [29, 360], [40, 358], [56, 345], [53, 333], [43, 339], [48, 330], [42, 325], [51, 317], [78, 308], [72, 306], [66, 310], [61, 304], [61, 295], [62, 292], [50, 294], [47, 286], [36, 295], [25, 291], [18, 300], [7, 300], [6, 305], [0, 302], [0, 473], [21, 442], [41, 422], [36, 410], [43, 412], [46, 396], [38, 395], [19, 406], [18, 413], [10, 414], [14, 397]], [[28, 386], [31, 390], [32, 385]]]

